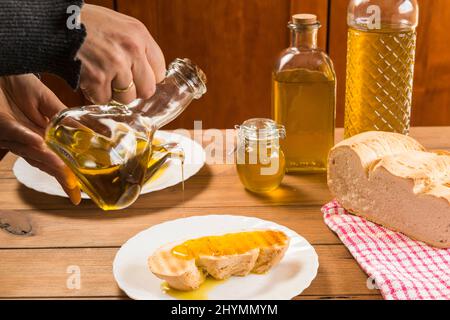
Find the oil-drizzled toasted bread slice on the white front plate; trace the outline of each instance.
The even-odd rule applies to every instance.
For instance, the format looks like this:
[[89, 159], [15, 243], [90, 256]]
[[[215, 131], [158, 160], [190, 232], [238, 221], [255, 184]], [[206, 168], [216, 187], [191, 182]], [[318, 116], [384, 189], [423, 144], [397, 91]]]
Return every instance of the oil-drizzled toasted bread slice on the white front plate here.
[[[239, 238], [234, 238], [236, 235]], [[250, 272], [266, 273], [280, 262], [289, 246], [289, 238], [284, 233], [272, 230], [189, 241], [197, 242], [197, 245], [202, 242], [193, 256], [177, 256], [173, 249], [180, 243], [172, 243], [159, 248], [148, 258], [150, 271], [180, 291], [198, 289], [208, 275], [223, 280], [246, 276]]]

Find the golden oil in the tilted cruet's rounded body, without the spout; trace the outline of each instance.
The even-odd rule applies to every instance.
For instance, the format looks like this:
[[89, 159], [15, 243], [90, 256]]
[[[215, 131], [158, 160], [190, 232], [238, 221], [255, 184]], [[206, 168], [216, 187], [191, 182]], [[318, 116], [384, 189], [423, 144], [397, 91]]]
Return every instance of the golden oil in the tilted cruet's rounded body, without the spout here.
[[109, 120], [105, 122], [110, 126], [108, 131], [112, 129], [109, 136], [84, 126], [60, 124], [49, 128], [46, 142], [100, 208], [118, 210], [133, 203], [141, 192], [151, 139], [145, 130], [131, 130]]

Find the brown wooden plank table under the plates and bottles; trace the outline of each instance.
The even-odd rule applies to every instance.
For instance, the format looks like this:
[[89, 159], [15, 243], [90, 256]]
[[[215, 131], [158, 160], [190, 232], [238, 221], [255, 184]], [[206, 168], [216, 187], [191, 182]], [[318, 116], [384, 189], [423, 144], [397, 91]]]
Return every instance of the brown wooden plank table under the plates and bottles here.
[[[431, 149], [450, 149], [450, 127], [415, 128], [412, 136]], [[176, 186], [142, 196], [127, 210], [105, 213], [90, 201], [73, 207], [67, 199], [22, 186], [11, 171], [15, 159], [8, 155], [0, 163], [1, 209], [29, 217], [35, 235], [0, 230], [0, 298], [126, 298], [112, 275], [118, 248], [154, 224], [207, 214], [272, 220], [309, 240], [320, 268], [298, 299], [381, 298], [367, 287], [367, 276], [323, 223], [320, 208], [331, 200], [325, 175], [287, 176], [280, 190], [257, 196], [244, 190], [233, 165], [208, 165], [186, 182], [184, 201]], [[81, 288], [69, 289], [67, 281], [76, 268]]]

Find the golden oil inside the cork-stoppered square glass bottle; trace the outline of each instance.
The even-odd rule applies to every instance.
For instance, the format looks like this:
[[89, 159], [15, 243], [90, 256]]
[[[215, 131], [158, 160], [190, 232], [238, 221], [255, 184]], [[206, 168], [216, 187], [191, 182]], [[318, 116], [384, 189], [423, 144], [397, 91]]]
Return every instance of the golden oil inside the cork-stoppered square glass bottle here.
[[334, 145], [334, 77], [297, 69], [273, 76], [274, 119], [286, 128], [281, 142], [288, 172], [326, 170]]

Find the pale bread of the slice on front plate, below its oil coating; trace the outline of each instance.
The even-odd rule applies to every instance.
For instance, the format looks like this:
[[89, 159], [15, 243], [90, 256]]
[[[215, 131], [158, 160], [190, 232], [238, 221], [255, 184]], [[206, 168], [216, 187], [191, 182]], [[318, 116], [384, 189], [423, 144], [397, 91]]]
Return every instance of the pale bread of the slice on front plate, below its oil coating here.
[[[252, 232], [248, 234], [248, 241], [251, 243]], [[151, 272], [167, 281], [171, 288], [191, 291], [198, 289], [208, 275], [224, 280], [232, 276], [246, 276], [251, 272], [261, 274], [269, 271], [283, 258], [289, 246], [289, 238], [286, 236], [284, 241], [276, 244], [249, 246], [245, 252], [236, 254], [202, 254], [189, 259], [173, 254], [173, 248], [180, 244], [173, 243], [159, 248], [148, 258], [148, 265]], [[213, 251], [219, 250], [213, 248]]]

